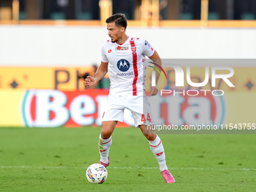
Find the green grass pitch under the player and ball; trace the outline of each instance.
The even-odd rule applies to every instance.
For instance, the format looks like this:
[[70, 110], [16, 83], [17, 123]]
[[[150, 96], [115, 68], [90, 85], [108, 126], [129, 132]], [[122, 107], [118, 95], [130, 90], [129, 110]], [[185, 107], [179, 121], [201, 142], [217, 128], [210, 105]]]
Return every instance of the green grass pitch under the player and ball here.
[[90, 184], [99, 133], [0, 128], [0, 191], [255, 191], [255, 135], [160, 135], [175, 177], [166, 184], [140, 130], [117, 128], [108, 178]]

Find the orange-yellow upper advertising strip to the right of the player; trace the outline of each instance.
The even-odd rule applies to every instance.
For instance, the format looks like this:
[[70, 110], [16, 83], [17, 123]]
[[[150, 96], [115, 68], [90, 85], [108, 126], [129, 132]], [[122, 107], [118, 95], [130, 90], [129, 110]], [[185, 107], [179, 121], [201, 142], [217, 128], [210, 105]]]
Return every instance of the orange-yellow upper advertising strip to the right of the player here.
[[[215, 80], [215, 87], [212, 87], [212, 69], [209, 68], [209, 79], [208, 83], [203, 87], [191, 87], [189, 84], [187, 84], [187, 69], [185, 67], [182, 67], [184, 71], [184, 87], [181, 87], [184, 90], [190, 89], [190, 90], [224, 90], [225, 93], [233, 93], [237, 91], [242, 92], [256, 92], [256, 68], [250, 67], [250, 68], [235, 68], [234, 75], [231, 78], [228, 78], [228, 80], [235, 86], [235, 87], [229, 87], [228, 84], [223, 81], [221, 78], [217, 78]], [[163, 70], [166, 72], [167, 80], [166, 78], [159, 78], [157, 87], [159, 90], [164, 89], [178, 89], [178, 87], [175, 87], [175, 71], [174, 69], [170, 67], [163, 67]], [[146, 76], [146, 84], [151, 83], [151, 72], [153, 69], [147, 70], [147, 76]], [[221, 74], [227, 74], [227, 70], [216, 70], [216, 73], [218, 75]], [[163, 72], [162, 72], [163, 75]], [[164, 75], [163, 75], [164, 77]], [[190, 68], [190, 80], [194, 83], [200, 83], [205, 81], [206, 78], [206, 69], [205, 67], [191, 67]], [[147, 87], [147, 90], [149, 90], [149, 87]]]

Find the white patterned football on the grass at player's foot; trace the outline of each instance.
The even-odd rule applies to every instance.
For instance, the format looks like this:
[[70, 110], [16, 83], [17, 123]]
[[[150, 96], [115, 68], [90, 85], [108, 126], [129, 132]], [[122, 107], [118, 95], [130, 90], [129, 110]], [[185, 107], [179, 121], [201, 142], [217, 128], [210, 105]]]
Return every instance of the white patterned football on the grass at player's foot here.
[[87, 180], [93, 184], [102, 184], [108, 177], [108, 171], [105, 166], [94, 163], [87, 168]]

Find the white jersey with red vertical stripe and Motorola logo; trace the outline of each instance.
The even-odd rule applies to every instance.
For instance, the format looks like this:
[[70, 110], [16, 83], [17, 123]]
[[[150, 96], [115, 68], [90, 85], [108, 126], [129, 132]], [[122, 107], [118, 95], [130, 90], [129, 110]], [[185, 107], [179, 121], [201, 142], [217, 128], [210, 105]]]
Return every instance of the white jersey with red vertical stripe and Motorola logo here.
[[145, 90], [145, 56], [152, 56], [154, 48], [143, 38], [128, 37], [123, 44], [105, 42], [102, 62], [108, 62], [111, 81], [109, 95], [143, 96]]

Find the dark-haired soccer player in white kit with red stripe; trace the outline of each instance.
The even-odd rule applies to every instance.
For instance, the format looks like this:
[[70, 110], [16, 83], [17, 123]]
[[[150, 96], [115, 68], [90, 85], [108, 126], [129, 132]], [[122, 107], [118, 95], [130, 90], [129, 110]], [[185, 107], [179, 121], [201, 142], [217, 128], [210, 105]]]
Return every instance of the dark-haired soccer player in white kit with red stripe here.
[[[135, 126], [142, 130], [148, 139], [151, 151], [160, 165], [160, 172], [166, 183], [175, 180], [166, 166], [166, 157], [161, 139], [152, 129], [153, 124], [149, 102], [145, 96], [145, 56], [161, 65], [160, 56], [143, 38], [126, 35], [127, 21], [124, 14], [114, 14], [106, 20], [108, 40], [102, 46], [102, 62], [93, 77], [87, 76], [85, 87], [89, 88], [102, 79], [108, 72], [111, 87], [107, 107], [102, 117], [102, 131], [99, 135], [99, 163], [109, 165], [108, 151], [111, 147], [111, 134], [118, 121], [123, 122], [123, 110], [129, 109], [133, 114]], [[156, 84], [159, 74], [156, 73]], [[150, 96], [158, 93], [157, 87], [151, 87]], [[144, 105], [144, 106], [143, 106]]]

